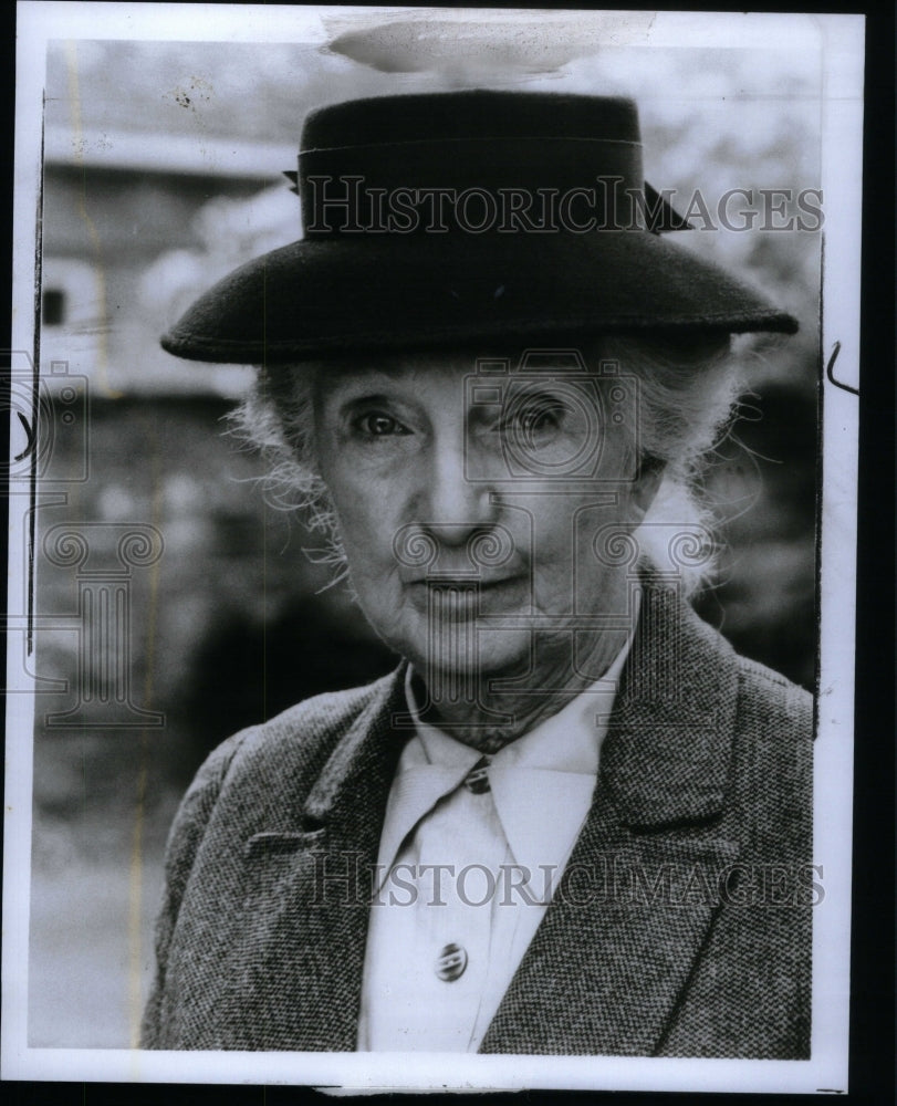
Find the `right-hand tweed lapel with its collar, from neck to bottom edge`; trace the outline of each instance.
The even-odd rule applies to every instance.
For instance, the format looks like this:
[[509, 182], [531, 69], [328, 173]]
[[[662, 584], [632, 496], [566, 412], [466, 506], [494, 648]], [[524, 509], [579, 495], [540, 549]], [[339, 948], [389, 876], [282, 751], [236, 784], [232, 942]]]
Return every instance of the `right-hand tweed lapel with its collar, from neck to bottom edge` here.
[[737, 689], [731, 649], [648, 588], [590, 814], [482, 1052], [661, 1046], [738, 856], [719, 832]]

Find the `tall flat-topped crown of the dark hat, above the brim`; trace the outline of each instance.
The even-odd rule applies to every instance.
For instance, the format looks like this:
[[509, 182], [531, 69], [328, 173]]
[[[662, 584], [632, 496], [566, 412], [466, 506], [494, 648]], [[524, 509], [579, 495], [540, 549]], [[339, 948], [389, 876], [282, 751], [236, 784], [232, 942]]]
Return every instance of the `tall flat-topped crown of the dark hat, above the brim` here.
[[312, 113], [299, 155], [306, 238], [632, 226], [644, 187], [636, 105], [612, 96], [356, 100]]

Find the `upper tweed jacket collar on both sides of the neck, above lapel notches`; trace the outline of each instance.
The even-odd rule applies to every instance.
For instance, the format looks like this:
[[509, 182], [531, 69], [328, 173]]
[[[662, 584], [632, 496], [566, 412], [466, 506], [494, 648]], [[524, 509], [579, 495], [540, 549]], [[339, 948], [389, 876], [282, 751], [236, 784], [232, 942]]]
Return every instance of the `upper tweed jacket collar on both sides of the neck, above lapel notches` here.
[[[403, 662], [337, 743], [305, 802], [311, 826], [347, 813], [359, 787], [368, 795], [383, 791], [385, 804], [403, 737], [414, 733], [403, 691], [406, 669]], [[675, 587], [646, 581], [601, 759], [625, 824], [659, 828], [720, 813], [737, 697], [738, 664], [728, 643]]]

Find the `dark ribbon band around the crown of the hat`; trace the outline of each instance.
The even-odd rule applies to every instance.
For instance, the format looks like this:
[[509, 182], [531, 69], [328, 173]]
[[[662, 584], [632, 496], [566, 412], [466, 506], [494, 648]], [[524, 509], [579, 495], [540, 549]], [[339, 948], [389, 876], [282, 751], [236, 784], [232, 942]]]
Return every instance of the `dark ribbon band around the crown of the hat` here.
[[[292, 176], [292, 175], [290, 175]], [[299, 156], [306, 239], [651, 227], [639, 143], [440, 139]]]

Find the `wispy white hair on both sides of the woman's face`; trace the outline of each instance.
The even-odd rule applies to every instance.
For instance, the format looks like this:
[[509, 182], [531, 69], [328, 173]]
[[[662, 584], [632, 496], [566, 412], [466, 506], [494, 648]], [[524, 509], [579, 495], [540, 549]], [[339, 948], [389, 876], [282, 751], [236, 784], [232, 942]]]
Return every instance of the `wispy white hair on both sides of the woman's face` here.
[[[702, 476], [708, 453], [732, 420], [738, 394], [737, 361], [728, 335], [603, 335], [586, 351], [591, 368], [614, 362], [638, 379], [637, 417], [630, 449], [639, 466], [663, 474], [637, 530], [608, 533], [614, 556], [634, 570], [648, 565], [693, 592], [713, 567], [713, 515]], [[267, 463], [267, 501], [299, 510], [326, 549], [319, 560], [346, 572], [336, 513], [315, 456], [314, 382], [323, 363], [258, 367], [255, 384], [233, 411], [238, 436], [260, 449]], [[614, 377], [599, 375], [603, 388]], [[620, 544], [623, 542], [623, 544]], [[619, 562], [617, 562], [619, 563]]]

